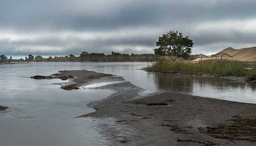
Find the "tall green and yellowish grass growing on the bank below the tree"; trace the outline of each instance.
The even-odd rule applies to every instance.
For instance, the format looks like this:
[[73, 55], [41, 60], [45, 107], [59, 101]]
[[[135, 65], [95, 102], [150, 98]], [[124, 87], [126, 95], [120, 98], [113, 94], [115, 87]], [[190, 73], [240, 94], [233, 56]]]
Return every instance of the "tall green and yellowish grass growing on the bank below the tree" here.
[[248, 62], [231, 60], [205, 60], [199, 62], [190, 61], [159, 61], [148, 66], [150, 71], [176, 71], [194, 73], [212, 73], [229, 76], [249, 76], [256, 78], [256, 69], [248, 71]]

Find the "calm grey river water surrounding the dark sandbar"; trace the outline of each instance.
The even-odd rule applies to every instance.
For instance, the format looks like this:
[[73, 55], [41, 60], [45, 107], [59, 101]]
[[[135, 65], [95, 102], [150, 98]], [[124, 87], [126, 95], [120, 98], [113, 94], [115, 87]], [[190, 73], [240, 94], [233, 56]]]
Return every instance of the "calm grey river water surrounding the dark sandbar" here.
[[[0, 64], [0, 105], [11, 110], [0, 112], [0, 145], [7, 146], [84, 146], [108, 145], [95, 126], [97, 119], [74, 118], [89, 112], [93, 100], [113, 93], [108, 90], [65, 91], [59, 79], [34, 80], [59, 70], [92, 70], [123, 76], [149, 91], [180, 92], [244, 103], [256, 103], [256, 85], [229, 80], [147, 73], [137, 70], [147, 62], [31, 62]], [[107, 121], [106, 121], [107, 122]]]

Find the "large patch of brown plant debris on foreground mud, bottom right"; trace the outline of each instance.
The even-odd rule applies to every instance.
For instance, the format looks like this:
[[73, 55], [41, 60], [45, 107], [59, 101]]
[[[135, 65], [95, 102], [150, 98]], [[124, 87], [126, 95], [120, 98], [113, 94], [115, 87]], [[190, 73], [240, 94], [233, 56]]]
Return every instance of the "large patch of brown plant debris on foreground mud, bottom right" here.
[[233, 123], [217, 124], [216, 127], [199, 128], [199, 131], [215, 138], [256, 141], [256, 117], [234, 116]]

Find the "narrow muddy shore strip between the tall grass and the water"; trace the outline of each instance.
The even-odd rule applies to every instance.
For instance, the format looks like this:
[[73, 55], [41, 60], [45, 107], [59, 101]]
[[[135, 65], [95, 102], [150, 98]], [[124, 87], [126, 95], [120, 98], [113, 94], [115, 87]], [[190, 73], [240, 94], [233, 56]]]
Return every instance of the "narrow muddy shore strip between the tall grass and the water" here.
[[178, 74], [178, 75], [184, 75], [184, 76], [203, 76], [203, 77], [221, 78], [221, 79], [238, 81], [238, 82], [256, 83], [256, 80], [249, 80], [247, 76], [226, 76], [226, 75], [212, 74], [212, 73], [176, 72], [176, 71], [158, 72], [154, 70], [147, 70], [146, 68], [142, 68], [140, 70], [143, 70], [149, 73], [168, 73], [168, 74]]

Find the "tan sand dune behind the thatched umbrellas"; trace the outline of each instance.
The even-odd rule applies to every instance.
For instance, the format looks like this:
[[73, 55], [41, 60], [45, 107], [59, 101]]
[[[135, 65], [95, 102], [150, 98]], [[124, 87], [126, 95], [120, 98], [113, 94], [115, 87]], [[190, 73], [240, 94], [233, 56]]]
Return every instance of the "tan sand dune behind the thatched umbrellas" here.
[[[242, 48], [242, 49], [234, 49], [232, 47], [228, 47], [219, 52], [227, 53], [233, 56], [233, 58], [228, 57], [225, 59], [232, 59], [232, 60], [238, 60], [238, 61], [256, 61], [256, 47]], [[202, 58], [202, 60], [204, 59], [212, 59], [212, 58]], [[224, 59], [224, 57], [222, 59]], [[199, 61], [199, 60], [200, 58], [197, 58], [197, 59], [194, 59], [193, 61]]]

